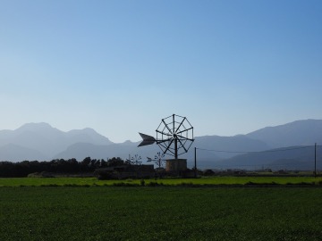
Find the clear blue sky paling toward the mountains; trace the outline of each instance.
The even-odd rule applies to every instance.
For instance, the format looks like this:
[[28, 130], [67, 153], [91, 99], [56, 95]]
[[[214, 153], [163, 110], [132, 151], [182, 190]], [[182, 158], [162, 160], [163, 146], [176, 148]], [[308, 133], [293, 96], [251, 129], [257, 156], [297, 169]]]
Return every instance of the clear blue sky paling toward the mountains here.
[[322, 119], [320, 0], [0, 0], [0, 129], [114, 142], [186, 116], [195, 136]]

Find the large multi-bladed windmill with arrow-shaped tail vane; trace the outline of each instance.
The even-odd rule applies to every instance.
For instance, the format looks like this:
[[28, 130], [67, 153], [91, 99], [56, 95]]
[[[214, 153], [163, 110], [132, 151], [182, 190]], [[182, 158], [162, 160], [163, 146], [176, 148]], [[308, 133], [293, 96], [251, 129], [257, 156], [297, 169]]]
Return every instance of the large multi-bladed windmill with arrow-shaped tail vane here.
[[[168, 161], [177, 160], [178, 162], [182, 162], [180, 160], [184, 160], [186, 169], [186, 160], [178, 159], [178, 156], [187, 153], [194, 141], [193, 127], [191, 126], [189, 120], [180, 115], [170, 115], [161, 120], [156, 132], [157, 137], [151, 137], [139, 132], [143, 140], [138, 146], [152, 145], [157, 143], [162, 150], [162, 154], [174, 156], [174, 159], [167, 160], [166, 166], [171, 164]], [[172, 163], [177, 166], [178, 162]]]

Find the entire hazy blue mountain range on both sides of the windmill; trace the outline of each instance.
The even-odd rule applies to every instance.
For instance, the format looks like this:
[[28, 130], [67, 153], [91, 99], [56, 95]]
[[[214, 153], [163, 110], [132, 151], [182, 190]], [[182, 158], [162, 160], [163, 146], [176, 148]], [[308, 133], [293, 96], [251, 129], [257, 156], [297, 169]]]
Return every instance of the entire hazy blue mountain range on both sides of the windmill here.
[[[115, 144], [94, 129], [64, 132], [47, 123], [29, 123], [15, 130], [0, 130], [0, 161], [51, 161], [57, 158], [81, 161], [87, 156], [106, 160], [139, 154], [145, 162], [146, 157], [153, 158], [160, 151], [157, 145], [137, 147], [139, 143]], [[322, 120], [297, 120], [246, 135], [195, 137], [190, 152], [181, 157], [187, 158], [191, 167], [196, 146], [199, 168], [312, 170], [315, 143], [322, 144]], [[321, 156], [321, 147], [317, 150]], [[318, 162], [318, 168], [321, 167]]]

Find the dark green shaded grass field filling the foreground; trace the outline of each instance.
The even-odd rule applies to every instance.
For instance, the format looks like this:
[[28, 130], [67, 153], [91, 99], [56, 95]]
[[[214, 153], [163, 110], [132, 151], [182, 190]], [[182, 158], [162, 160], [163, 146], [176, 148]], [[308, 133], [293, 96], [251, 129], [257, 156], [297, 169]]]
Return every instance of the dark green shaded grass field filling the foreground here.
[[0, 240], [321, 240], [322, 188], [0, 187]]

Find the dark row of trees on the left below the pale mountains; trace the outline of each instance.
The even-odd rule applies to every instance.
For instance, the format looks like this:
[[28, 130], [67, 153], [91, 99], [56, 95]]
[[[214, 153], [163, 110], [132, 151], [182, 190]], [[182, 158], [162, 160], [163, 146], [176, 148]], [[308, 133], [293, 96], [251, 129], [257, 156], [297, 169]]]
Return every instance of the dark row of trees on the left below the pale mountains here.
[[98, 168], [106, 168], [118, 165], [130, 164], [120, 157], [114, 157], [107, 161], [101, 159], [91, 159], [86, 157], [78, 162], [75, 158], [64, 160], [55, 159], [50, 162], [23, 161], [23, 162], [0, 162], [1, 178], [21, 178], [27, 177], [30, 173], [50, 172], [63, 174], [78, 174], [93, 172]]

